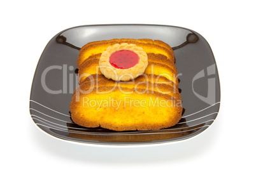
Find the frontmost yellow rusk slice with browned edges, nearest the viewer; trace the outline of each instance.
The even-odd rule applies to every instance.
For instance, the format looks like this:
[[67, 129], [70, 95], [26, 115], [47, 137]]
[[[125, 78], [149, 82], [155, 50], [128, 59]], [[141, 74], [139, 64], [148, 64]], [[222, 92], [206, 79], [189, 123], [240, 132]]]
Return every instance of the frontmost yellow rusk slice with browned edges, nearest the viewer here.
[[[85, 86], [87, 85], [82, 84], [80, 88], [84, 89]], [[108, 102], [106, 107], [103, 105], [89, 107], [90, 101], [104, 103], [104, 101], [110, 100], [110, 93], [99, 95], [96, 90], [100, 92], [111, 91], [111, 100], [117, 100], [120, 105]], [[130, 88], [123, 88], [123, 90], [131, 91]], [[143, 90], [141, 89], [141, 91]], [[159, 130], [174, 126], [180, 121], [182, 113], [180, 100], [158, 92], [144, 93], [143, 95], [132, 93], [131, 95], [124, 93], [124, 91], [112, 90], [110, 86], [101, 86], [92, 89], [89, 94], [80, 93], [81, 100], [78, 101], [75, 100], [76, 95], [73, 95], [70, 107], [72, 120], [87, 128], [101, 126], [101, 128], [115, 131]], [[145, 104], [142, 105], [143, 107], [139, 107], [139, 103], [127, 103], [127, 101], [143, 101]], [[162, 104], [154, 105], [156, 101], [161, 101]], [[85, 107], [87, 114], [83, 114]]]

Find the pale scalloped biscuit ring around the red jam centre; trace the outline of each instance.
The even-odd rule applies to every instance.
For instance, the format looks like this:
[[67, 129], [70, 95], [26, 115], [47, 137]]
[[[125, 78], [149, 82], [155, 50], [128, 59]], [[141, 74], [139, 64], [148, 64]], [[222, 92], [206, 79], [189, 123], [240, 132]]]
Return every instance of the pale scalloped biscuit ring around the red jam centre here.
[[[139, 57], [139, 62], [129, 69], [117, 69], [110, 64], [110, 56], [116, 51], [129, 50], [136, 53]], [[146, 55], [143, 48], [136, 46], [135, 44], [115, 44], [109, 46], [101, 54], [99, 59], [99, 69], [101, 73], [105, 75], [106, 78], [112, 79], [114, 81], [129, 81], [131, 79], [136, 79], [139, 75], [145, 72], [148, 66], [148, 56]]]

